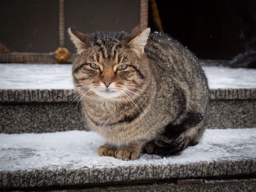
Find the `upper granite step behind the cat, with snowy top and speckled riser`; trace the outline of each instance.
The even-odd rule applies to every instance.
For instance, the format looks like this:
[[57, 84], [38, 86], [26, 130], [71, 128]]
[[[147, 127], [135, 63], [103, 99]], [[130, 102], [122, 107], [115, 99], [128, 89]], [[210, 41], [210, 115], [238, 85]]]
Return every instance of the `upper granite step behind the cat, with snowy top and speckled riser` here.
[[[256, 69], [204, 70], [211, 93], [207, 127], [256, 127]], [[88, 130], [77, 107], [71, 65], [0, 64], [0, 81], [0, 132]]]

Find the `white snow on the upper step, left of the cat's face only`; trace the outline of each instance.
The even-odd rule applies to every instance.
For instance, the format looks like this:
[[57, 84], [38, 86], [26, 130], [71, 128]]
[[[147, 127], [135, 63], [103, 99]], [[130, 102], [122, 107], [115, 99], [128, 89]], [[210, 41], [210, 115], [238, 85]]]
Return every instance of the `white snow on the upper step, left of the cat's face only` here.
[[0, 89], [73, 89], [71, 64], [0, 64]]

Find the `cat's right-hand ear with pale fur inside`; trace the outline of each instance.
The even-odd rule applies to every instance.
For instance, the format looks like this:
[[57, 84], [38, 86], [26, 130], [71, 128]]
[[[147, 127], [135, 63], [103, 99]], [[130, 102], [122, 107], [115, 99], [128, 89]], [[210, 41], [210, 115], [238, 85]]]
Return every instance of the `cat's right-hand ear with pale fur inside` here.
[[131, 48], [136, 52], [143, 54], [149, 33], [150, 28], [147, 28], [144, 31], [142, 31], [139, 35], [131, 36], [131, 38], [129, 39], [129, 45], [131, 46]]

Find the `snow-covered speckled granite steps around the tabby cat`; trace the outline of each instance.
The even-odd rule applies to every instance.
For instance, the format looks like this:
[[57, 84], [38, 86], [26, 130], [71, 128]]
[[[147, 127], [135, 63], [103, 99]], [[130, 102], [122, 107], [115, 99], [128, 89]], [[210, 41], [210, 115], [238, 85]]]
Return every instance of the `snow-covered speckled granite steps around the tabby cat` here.
[[70, 65], [0, 64], [0, 190], [256, 191], [256, 70], [204, 70], [201, 143], [127, 162], [97, 155], [104, 139], [83, 125]]

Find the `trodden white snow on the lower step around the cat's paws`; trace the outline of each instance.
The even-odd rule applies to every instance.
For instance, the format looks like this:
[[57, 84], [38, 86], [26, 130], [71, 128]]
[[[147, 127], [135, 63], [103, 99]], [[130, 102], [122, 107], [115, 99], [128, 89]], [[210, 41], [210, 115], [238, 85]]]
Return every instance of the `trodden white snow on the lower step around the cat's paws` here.
[[97, 155], [104, 139], [95, 132], [0, 134], [0, 171], [79, 169], [189, 162], [241, 160], [256, 157], [256, 128], [206, 130], [202, 141], [176, 156], [141, 154], [122, 161]]

